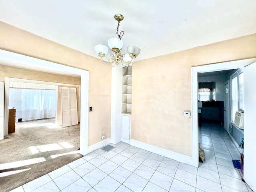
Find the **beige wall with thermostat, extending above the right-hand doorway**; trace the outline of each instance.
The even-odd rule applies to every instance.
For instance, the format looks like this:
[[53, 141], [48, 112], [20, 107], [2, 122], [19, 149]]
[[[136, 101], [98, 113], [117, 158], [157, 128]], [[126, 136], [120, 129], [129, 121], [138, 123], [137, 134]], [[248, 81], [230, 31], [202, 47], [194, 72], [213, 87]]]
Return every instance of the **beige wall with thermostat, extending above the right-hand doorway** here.
[[256, 34], [134, 62], [131, 138], [192, 156], [191, 67], [256, 58]]

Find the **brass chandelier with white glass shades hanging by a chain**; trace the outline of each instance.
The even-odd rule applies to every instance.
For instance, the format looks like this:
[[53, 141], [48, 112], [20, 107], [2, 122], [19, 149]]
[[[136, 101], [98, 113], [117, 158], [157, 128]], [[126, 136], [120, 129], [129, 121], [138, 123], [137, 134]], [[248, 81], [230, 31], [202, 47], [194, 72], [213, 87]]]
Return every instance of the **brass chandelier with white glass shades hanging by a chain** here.
[[[108, 54], [108, 47], [106, 45], [96, 45], [95, 52], [101, 57], [102, 61], [106, 63], [111, 63], [112, 67], [117, 66], [119, 63], [122, 64], [123, 67], [128, 67], [132, 65], [133, 60], [140, 54], [140, 48], [135, 46], [128, 46], [127, 52], [128, 54], [121, 54], [123, 41], [121, 40], [124, 35], [124, 31], [119, 32], [120, 21], [124, 19], [122, 14], [115, 14], [115, 20], [118, 21], [118, 25], [116, 28], [116, 34], [118, 38], [110, 38], [108, 39], [108, 46], [111, 49], [112, 53]], [[106, 60], [103, 60], [103, 57], [106, 56]]]

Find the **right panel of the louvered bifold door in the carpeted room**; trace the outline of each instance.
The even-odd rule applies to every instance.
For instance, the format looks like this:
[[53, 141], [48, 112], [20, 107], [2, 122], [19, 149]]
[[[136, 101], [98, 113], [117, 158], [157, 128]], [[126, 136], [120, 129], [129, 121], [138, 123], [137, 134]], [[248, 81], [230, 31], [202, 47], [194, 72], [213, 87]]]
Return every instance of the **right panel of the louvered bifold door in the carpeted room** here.
[[71, 125], [78, 124], [76, 88], [69, 88]]

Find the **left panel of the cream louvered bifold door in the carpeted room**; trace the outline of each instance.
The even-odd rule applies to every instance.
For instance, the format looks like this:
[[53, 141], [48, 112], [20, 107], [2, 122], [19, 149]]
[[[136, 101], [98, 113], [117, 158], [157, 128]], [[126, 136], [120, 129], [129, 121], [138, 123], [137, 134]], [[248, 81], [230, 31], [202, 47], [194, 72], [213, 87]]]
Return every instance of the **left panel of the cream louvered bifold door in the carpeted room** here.
[[70, 99], [68, 87], [60, 88], [61, 96], [61, 114], [62, 114], [62, 127], [68, 127], [71, 125], [70, 118]]

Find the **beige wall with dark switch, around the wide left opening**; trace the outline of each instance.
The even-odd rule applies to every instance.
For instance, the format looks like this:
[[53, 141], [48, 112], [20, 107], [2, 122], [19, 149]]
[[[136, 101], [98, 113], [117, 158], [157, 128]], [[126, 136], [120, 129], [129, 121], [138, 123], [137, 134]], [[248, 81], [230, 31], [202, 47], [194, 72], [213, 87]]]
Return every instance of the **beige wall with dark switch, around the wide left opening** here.
[[[110, 64], [4, 22], [0, 22], [0, 29], [0, 49], [2, 50], [88, 70], [89, 106], [93, 107], [93, 111], [88, 114], [88, 145], [101, 141], [102, 133], [106, 138], [110, 137]], [[86, 44], [86, 42], [81, 43]]]

